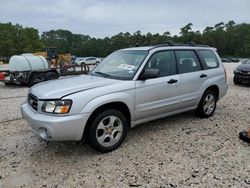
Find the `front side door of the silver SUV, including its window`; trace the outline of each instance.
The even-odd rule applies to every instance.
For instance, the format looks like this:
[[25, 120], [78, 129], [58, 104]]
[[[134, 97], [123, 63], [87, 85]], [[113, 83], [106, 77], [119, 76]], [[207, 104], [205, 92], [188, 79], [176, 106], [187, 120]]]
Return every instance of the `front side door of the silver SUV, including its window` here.
[[135, 120], [149, 119], [178, 109], [179, 75], [173, 51], [152, 55], [145, 66], [160, 70], [160, 77], [137, 80], [135, 91]]

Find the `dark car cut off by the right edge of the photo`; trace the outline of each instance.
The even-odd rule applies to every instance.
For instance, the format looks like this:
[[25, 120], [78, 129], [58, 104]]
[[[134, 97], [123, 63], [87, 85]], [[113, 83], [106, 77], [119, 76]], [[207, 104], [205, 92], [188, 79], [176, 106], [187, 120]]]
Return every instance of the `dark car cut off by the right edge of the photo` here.
[[234, 84], [250, 84], [250, 59], [234, 70]]

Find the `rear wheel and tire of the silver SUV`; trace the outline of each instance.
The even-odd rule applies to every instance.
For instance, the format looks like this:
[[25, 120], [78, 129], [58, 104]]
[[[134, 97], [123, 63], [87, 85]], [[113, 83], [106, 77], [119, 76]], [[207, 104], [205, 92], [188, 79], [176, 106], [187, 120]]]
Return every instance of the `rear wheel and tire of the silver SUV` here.
[[218, 96], [212, 90], [207, 90], [203, 94], [198, 108], [196, 109], [196, 114], [202, 118], [208, 118], [214, 114], [216, 109]]

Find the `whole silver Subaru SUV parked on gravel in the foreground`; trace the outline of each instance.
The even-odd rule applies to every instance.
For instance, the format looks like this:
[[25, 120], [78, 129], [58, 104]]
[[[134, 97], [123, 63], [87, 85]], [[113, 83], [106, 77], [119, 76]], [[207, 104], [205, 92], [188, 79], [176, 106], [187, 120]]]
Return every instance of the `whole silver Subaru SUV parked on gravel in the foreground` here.
[[214, 48], [169, 43], [118, 50], [89, 75], [38, 84], [21, 111], [45, 140], [85, 137], [109, 152], [129, 127], [189, 110], [210, 117], [227, 88]]

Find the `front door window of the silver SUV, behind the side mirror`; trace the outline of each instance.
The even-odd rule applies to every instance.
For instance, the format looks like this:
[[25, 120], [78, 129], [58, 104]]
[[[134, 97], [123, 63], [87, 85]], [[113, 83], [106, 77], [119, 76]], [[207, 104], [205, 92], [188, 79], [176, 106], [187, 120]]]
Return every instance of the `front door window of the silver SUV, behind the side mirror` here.
[[160, 76], [165, 77], [176, 74], [176, 62], [173, 51], [161, 51], [152, 55], [146, 69], [159, 69]]

